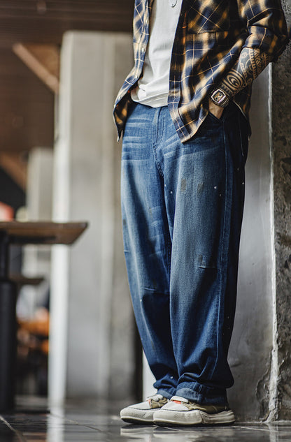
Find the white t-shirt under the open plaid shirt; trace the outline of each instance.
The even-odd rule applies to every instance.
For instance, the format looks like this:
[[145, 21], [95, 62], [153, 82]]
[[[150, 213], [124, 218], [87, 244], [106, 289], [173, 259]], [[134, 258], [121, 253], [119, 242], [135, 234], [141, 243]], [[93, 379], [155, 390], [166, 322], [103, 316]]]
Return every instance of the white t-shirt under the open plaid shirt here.
[[132, 99], [159, 108], [168, 103], [171, 53], [182, 0], [155, 0], [150, 16], [150, 38], [143, 76], [132, 91]]

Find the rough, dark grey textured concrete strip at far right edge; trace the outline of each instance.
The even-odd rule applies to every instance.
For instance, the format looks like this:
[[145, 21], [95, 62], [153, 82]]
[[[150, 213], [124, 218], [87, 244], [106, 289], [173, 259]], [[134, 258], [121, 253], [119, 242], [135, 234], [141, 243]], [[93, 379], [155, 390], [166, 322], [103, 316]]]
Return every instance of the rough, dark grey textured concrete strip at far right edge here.
[[[283, 0], [291, 24], [291, 1]], [[278, 418], [291, 418], [291, 46], [273, 65]]]

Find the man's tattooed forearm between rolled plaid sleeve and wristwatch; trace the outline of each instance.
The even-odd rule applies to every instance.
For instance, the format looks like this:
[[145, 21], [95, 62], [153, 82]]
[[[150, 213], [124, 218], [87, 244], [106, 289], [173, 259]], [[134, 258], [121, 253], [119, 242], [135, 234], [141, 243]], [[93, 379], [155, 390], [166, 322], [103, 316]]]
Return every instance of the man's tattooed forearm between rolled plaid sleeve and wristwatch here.
[[271, 61], [269, 55], [261, 52], [260, 49], [244, 47], [239, 60], [227, 73], [219, 88], [223, 89], [229, 98], [232, 98], [247, 84], [253, 82], [269, 64], [269, 61]]

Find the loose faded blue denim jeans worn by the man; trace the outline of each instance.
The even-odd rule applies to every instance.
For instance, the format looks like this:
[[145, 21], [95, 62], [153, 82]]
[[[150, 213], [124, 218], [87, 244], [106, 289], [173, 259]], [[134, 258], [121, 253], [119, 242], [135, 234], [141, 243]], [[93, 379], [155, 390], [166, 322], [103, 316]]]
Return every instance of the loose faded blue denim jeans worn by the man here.
[[233, 103], [180, 142], [167, 107], [132, 105], [122, 146], [129, 288], [158, 392], [226, 404], [248, 126]]

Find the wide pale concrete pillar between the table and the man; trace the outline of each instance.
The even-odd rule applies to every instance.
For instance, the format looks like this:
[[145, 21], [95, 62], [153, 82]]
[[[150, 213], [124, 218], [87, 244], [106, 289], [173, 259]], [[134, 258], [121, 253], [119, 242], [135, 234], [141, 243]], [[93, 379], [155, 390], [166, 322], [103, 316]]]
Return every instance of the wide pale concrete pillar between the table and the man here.
[[[122, 249], [115, 94], [132, 65], [127, 34], [69, 32], [61, 58], [54, 218], [90, 227], [52, 259], [50, 399], [127, 397], [132, 309]], [[66, 337], [67, 330], [67, 337]], [[66, 388], [65, 388], [66, 383]]]

